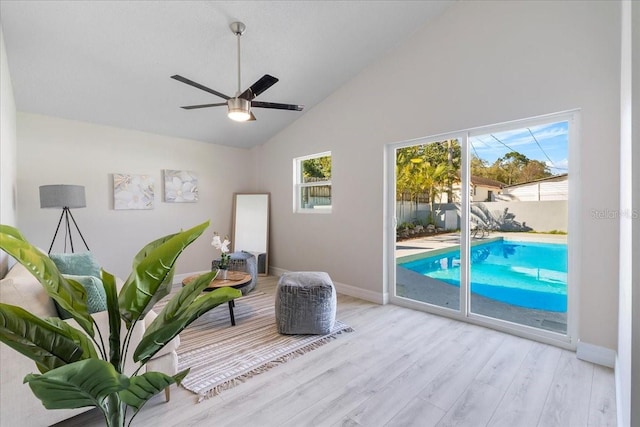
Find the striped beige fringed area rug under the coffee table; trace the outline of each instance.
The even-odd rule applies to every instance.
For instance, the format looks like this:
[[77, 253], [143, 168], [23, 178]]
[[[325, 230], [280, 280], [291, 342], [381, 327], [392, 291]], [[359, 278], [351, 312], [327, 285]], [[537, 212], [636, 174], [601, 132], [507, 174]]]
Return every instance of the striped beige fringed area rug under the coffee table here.
[[236, 326], [223, 304], [180, 333], [178, 370], [191, 368], [182, 386], [196, 393], [198, 402], [352, 331], [336, 321], [327, 335], [281, 335], [274, 305], [273, 295], [253, 292], [235, 300]]

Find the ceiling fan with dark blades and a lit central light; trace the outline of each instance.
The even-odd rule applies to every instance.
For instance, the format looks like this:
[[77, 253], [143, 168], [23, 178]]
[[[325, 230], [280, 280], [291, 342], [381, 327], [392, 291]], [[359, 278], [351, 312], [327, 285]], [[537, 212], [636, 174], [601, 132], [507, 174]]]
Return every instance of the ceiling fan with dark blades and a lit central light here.
[[206, 86], [203, 86], [200, 83], [196, 83], [193, 80], [189, 80], [186, 77], [182, 77], [176, 74], [175, 76], [171, 76], [171, 78], [178, 80], [179, 82], [186, 83], [200, 90], [204, 90], [205, 92], [209, 92], [226, 100], [226, 102], [219, 102], [216, 104], [188, 105], [181, 108], [184, 108], [185, 110], [194, 110], [197, 108], [221, 107], [223, 105], [226, 105], [228, 108], [227, 115], [229, 116], [229, 118], [238, 122], [245, 122], [256, 119], [256, 117], [253, 115], [253, 112], [251, 112], [251, 107], [302, 111], [304, 105], [254, 101], [254, 99], [258, 95], [269, 89], [278, 81], [276, 77], [270, 76], [269, 74], [265, 74], [260, 79], [258, 79], [257, 82], [252, 84], [250, 88], [242, 92], [240, 86], [240, 36], [242, 36], [242, 33], [244, 33], [246, 26], [242, 22], [233, 22], [231, 23], [230, 28], [233, 34], [235, 34], [238, 39], [238, 91], [236, 92], [236, 95], [234, 97], [227, 96], [224, 93], [220, 93]]

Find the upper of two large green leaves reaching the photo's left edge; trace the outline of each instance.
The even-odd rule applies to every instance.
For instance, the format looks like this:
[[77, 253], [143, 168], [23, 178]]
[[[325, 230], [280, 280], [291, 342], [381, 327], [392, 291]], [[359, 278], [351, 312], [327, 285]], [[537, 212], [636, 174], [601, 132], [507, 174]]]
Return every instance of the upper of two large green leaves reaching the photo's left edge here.
[[14, 227], [0, 224], [0, 249], [11, 255], [33, 274], [63, 309], [94, 336], [93, 319], [87, 310], [87, 291], [73, 280], [66, 280], [47, 254], [26, 241]]

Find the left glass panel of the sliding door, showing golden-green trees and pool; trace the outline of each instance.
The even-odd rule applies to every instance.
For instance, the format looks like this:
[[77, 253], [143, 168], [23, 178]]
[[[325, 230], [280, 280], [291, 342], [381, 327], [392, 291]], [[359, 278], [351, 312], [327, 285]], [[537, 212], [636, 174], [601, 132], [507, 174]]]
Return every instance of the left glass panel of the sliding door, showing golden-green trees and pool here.
[[460, 310], [460, 143], [398, 148], [396, 293]]

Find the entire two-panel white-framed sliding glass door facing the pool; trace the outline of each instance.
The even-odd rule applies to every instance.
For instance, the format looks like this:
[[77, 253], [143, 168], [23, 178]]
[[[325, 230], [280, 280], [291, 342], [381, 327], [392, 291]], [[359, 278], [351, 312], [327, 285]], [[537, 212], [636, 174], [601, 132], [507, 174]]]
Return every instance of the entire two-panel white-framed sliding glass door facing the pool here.
[[569, 340], [576, 115], [389, 147], [392, 302]]

